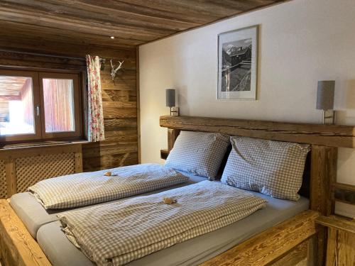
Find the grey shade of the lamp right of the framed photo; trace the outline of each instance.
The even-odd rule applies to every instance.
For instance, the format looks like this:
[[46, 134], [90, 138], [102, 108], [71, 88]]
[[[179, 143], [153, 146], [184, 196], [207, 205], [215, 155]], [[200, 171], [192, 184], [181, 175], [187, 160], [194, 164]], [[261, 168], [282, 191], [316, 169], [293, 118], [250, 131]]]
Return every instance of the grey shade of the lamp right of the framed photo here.
[[334, 80], [323, 80], [318, 82], [317, 89], [317, 109], [333, 110], [334, 109]]

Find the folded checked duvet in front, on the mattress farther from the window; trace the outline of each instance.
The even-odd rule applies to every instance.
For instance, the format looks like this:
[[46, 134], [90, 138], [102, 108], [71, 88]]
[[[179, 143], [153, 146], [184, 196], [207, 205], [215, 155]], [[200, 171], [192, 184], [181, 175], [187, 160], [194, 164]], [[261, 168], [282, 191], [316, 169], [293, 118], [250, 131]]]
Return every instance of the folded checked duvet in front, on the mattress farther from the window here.
[[[163, 199], [174, 199], [165, 204]], [[264, 199], [219, 182], [58, 214], [67, 238], [97, 265], [124, 265], [239, 221]]]

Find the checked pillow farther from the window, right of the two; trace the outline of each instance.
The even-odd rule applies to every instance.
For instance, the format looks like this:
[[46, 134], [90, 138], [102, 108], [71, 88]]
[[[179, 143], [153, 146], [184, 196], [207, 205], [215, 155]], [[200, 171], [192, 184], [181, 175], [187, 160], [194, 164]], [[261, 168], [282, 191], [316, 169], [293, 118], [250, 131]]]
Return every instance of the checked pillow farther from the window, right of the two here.
[[221, 181], [279, 199], [298, 200], [309, 145], [231, 137]]

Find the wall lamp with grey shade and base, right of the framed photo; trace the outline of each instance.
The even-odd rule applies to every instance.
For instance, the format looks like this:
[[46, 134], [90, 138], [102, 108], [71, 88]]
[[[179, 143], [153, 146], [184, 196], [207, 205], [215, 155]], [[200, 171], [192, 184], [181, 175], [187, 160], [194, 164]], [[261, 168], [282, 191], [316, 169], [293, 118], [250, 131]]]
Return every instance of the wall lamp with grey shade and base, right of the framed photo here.
[[323, 123], [334, 124], [334, 80], [323, 80], [318, 82], [317, 109], [323, 110]]

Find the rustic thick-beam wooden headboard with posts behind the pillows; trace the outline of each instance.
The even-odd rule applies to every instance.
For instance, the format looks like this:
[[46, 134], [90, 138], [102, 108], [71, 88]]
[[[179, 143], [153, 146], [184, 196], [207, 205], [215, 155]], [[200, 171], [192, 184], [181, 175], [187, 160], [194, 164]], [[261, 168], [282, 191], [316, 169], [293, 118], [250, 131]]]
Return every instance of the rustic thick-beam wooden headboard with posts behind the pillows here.
[[173, 148], [180, 130], [218, 132], [310, 144], [310, 209], [327, 216], [334, 214], [334, 189], [337, 188], [339, 194], [337, 148], [355, 147], [354, 126], [196, 116], [160, 116], [160, 126], [168, 128], [168, 150], [160, 151], [162, 158]]

